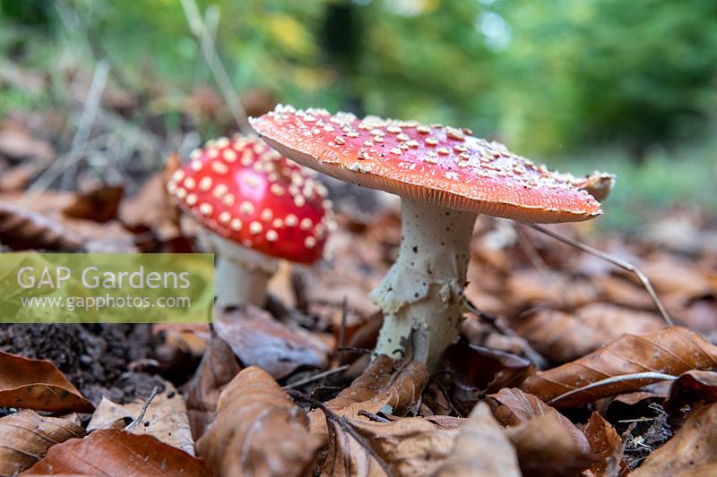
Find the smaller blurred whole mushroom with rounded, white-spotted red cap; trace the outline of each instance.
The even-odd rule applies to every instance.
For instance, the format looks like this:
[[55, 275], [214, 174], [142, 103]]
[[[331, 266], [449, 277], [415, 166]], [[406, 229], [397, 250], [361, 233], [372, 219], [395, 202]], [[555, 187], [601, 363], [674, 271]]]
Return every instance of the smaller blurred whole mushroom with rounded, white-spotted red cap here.
[[263, 306], [278, 259], [309, 264], [322, 256], [331, 222], [326, 188], [255, 136], [207, 142], [167, 189], [212, 232], [219, 306]]

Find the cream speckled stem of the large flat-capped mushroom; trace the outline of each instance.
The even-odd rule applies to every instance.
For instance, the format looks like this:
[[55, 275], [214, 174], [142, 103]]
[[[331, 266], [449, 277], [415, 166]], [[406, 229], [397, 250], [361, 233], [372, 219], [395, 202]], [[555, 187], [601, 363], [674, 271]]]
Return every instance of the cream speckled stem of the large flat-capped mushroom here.
[[371, 298], [384, 311], [376, 353], [413, 348], [429, 368], [454, 343], [477, 214], [402, 199], [398, 260]]

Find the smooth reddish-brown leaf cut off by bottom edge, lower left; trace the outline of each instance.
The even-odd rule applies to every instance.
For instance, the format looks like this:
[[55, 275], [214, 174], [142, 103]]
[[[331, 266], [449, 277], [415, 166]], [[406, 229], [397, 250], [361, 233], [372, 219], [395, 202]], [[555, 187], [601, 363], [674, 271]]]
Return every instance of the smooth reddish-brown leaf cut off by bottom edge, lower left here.
[[48, 456], [21, 475], [205, 475], [201, 459], [157, 438], [125, 430], [95, 430], [84, 439], [50, 447]]

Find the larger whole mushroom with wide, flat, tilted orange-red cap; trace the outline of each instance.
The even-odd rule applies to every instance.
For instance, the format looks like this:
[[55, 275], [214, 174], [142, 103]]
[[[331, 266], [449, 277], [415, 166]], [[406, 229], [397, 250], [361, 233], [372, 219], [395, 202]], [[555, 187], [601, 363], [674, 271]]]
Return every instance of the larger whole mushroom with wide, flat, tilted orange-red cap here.
[[371, 294], [384, 311], [376, 353], [393, 355], [411, 340], [414, 358], [430, 367], [458, 336], [479, 213], [542, 223], [601, 213], [572, 176], [467, 129], [281, 105], [250, 123], [303, 166], [401, 196], [399, 257]]

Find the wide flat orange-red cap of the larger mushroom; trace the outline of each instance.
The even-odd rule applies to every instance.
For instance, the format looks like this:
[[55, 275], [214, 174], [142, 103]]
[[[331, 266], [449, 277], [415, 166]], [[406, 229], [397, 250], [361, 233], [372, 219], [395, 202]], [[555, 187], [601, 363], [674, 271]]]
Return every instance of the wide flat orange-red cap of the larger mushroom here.
[[281, 105], [250, 122], [303, 166], [408, 199], [527, 222], [602, 213], [572, 176], [551, 173], [467, 129]]

